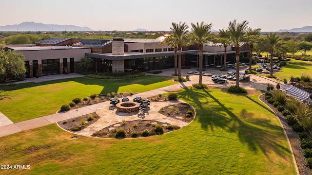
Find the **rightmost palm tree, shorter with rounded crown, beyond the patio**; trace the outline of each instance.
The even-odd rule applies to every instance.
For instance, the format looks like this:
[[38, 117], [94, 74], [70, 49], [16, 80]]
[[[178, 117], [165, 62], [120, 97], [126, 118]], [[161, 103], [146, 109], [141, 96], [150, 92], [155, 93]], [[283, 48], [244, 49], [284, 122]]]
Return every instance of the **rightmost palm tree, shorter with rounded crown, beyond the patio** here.
[[271, 59], [270, 59], [270, 76], [273, 76], [273, 51], [274, 49], [278, 49], [281, 46], [282, 39], [279, 36], [276, 36], [276, 34], [270, 33], [270, 35], [267, 35], [264, 41], [264, 47], [267, 48], [270, 51]]

